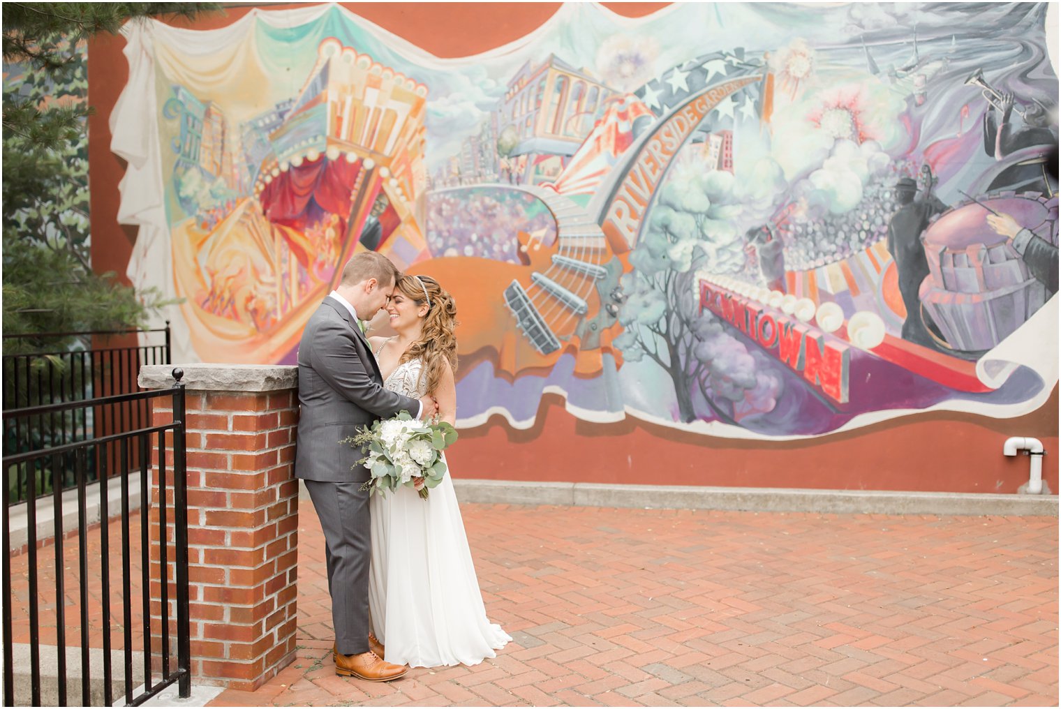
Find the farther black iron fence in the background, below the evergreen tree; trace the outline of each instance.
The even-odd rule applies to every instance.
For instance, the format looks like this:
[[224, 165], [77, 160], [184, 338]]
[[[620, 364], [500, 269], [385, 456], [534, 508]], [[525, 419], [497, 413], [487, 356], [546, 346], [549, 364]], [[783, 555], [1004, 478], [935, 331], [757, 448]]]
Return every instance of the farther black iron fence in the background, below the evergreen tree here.
[[[143, 335], [149, 344], [110, 346], [116, 338]], [[152, 343], [151, 341], [157, 341]], [[73, 401], [102, 401], [138, 391], [136, 380], [144, 364], [171, 363], [170, 325], [154, 330], [103, 330], [92, 332], [46, 332], [4, 335], [2, 358], [3, 411], [35, 409], [32, 416], [4, 419], [3, 454], [14, 455], [38, 451], [93, 437], [105, 436], [146, 425], [145, 402], [120, 399], [110, 403], [67, 409], [49, 404]], [[57, 345], [64, 345], [58, 347]], [[8, 353], [6, 350], [29, 349]], [[138, 405], [139, 403], [139, 405]], [[135, 452], [135, 451], [134, 451]], [[114, 460], [111, 460], [115, 463]], [[60, 489], [76, 486], [73, 468], [67, 474], [50, 474], [48, 459], [36, 459], [10, 481], [12, 504], [28, 499], [30, 481], [36, 497], [52, 494], [52, 485]], [[99, 461], [89, 461], [85, 474], [88, 481], [109, 477], [115, 468], [100, 468]]]

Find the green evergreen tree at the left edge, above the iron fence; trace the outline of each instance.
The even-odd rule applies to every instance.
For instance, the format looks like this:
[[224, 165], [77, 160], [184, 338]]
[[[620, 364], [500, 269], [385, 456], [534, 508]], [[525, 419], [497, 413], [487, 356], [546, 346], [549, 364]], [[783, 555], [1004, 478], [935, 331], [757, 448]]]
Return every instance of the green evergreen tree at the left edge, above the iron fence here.
[[[3, 5], [3, 331], [141, 325], [162, 305], [89, 258], [85, 40], [127, 20], [193, 17], [213, 3]], [[5, 352], [17, 349], [5, 344]], [[30, 346], [30, 345], [28, 345]]]

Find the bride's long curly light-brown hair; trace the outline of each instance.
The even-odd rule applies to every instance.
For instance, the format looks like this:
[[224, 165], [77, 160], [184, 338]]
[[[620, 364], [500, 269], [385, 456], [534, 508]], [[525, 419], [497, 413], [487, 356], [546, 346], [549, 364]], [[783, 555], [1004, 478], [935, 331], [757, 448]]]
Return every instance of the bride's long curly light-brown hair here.
[[457, 323], [457, 305], [453, 296], [431, 276], [402, 275], [395, 283], [395, 290], [400, 291], [417, 308], [428, 304], [428, 314], [423, 317], [422, 334], [419, 340], [408, 346], [401, 356], [401, 362], [420, 358], [423, 362], [421, 377], [428, 378], [428, 394], [434, 394], [446, 370], [445, 362], [455, 375], [457, 371], [457, 339], [453, 330]]

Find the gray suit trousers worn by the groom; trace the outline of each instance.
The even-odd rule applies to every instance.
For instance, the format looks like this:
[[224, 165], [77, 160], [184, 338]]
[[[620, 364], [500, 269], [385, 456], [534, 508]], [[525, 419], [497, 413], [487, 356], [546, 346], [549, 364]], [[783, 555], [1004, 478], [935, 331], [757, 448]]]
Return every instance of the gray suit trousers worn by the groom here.
[[358, 489], [360, 482], [303, 482], [325, 533], [335, 647], [344, 655], [367, 653], [372, 556], [368, 491]]

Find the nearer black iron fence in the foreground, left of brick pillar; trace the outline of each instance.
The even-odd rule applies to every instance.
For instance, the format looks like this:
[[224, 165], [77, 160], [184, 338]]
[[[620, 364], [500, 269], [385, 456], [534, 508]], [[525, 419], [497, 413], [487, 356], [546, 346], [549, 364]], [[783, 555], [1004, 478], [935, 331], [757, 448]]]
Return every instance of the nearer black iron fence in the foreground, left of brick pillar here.
[[[124, 679], [124, 695], [126, 705], [139, 705], [151, 698], [163, 688], [179, 682], [180, 696], [187, 697], [191, 690], [191, 651], [189, 634], [189, 595], [188, 595], [188, 508], [186, 481], [185, 450], [185, 390], [180, 384], [179, 369], [174, 369], [177, 384], [159, 392], [140, 392], [100, 397], [85, 401], [50, 403], [38, 407], [23, 408], [3, 413], [4, 431], [8, 427], [27, 428], [34, 418], [63, 416], [75, 412], [79, 408], [114, 408], [129, 404], [135, 409], [149, 411], [153, 400], [171, 399], [172, 422], [152, 426], [149, 419], [132, 430], [124, 430], [105, 435], [97, 435], [83, 440], [63, 443], [42, 450], [22, 451], [3, 455], [3, 485], [0, 494], [3, 496], [3, 677], [4, 706], [14, 706], [16, 688], [25, 685], [25, 677], [15, 677], [15, 661], [13, 643], [29, 644], [29, 696], [19, 697], [19, 704], [41, 704], [41, 654], [42, 644], [51, 651], [54, 646], [57, 663], [57, 704], [66, 706], [67, 696], [67, 646], [81, 649], [81, 694], [74, 699], [74, 705], [89, 706], [92, 704], [90, 654], [92, 650], [102, 649], [103, 704], [114, 704], [115, 672], [111, 662], [111, 649], [116, 639], [121, 644], [124, 658], [124, 674], [118, 681]], [[89, 431], [91, 432], [91, 431]], [[173, 455], [167, 460], [167, 432], [172, 432]], [[152, 466], [152, 452], [157, 449], [157, 465]], [[117, 465], [111, 465], [117, 460]], [[92, 483], [89, 470], [94, 465], [97, 470], [116, 470], [120, 475], [121, 511], [120, 521], [116, 514], [111, 522], [112, 512], [108, 509], [108, 484], [104, 481]], [[39, 471], [33, 474], [31, 471]], [[137, 515], [131, 509], [131, 477], [139, 471], [139, 487], [141, 507]], [[152, 472], [157, 475], [158, 498], [151, 500]], [[41, 477], [42, 475], [42, 477]], [[17, 486], [13, 479], [24, 481], [25, 496], [25, 546], [12, 548], [12, 494]], [[63, 488], [68, 481], [73, 481], [76, 488], [76, 532], [73, 536], [64, 530]], [[37, 500], [41, 481], [47, 484], [52, 497], [54, 529], [47, 535], [51, 537], [54, 552], [54, 567], [48, 556], [47, 547], [38, 549], [37, 516], [47, 508], [47, 502]], [[172, 486], [171, 486], [172, 482]], [[94, 488], [94, 495], [93, 495]], [[88, 498], [98, 495], [98, 515], [90, 515]], [[149, 503], [150, 501], [150, 503]], [[157, 514], [158, 533], [151, 533], [152, 521], [149, 519], [149, 508]], [[138, 517], [134, 523], [134, 517]], [[98, 524], [93, 520], [99, 520]], [[120, 524], [118, 534], [121, 537], [121, 559], [119, 568], [112, 569], [110, 547], [112, 541], [111, 525]], [[138, 528], [139, 544], [136, 544], [134, 528]], [[173, 530], [172, 541], [169, 530]], [[68, 541], [73, 539], [72, 541]], [[172, 549], [171, 549], [172, 544]], [[134, 547], [139, 546], [139, 555]], [[152, 549], [157, 546], [157, 557], [152, 558]], [[69, 550], [68, 550], [69, 547]], [[99, 552], [92, 553], [98, 548]], [[22, 553], [19, 553], [19, 552]], [[68, 558], [69, 554], [69, 558]], [[73, 556], [76, 556], [74, 564]], [[137, 558], [138, 557], [138, 558]], [[175, 623], [172, 622], [170, 604], [169, 563], [175, 567]], [[139, 561], [139, 573], [134, 573], [133, 565]], [[157, 561], [153, 565], [152, 561]], [[17, 573], [13, 573], [17, 566]], [[76, 568], [76, 572], [71, 570]], [[156, 570], [152, 577], [152, 569]], [[77, 633], [76, 640], [68, 638], [67, 629], [70, 621], [67, 618], [66, 600], [71, 598], [67, 588], [67, 576], [73, 574], [77, 586], [80, 603], [80, 619], [75, 625], [70, 625], [71, 633]], [[117, 575], [117, 578], [115, 576]], [[49, 583], [48, 576], [53, 578]], [[41, 583], [41, 578], [45, 583]], [[24, 582], [24, 583], [23, 583]], [[160, 622], [152, 623], [153, 608], [151, 589], [157, 584], [161, 594]], [[51, 588], [54, 586], [54, 588]], [[139, 586], [139, 598], [135, 587]], [[72, 590], [72, 589], [70, 589]], [[54, 593], [52, 592], [54, 591]], [[117, 593], [116, 593], [117, 591]], [[120, 595], [118, 595], [120, 593]], [[121, 602], [121, 617], [111, 605], [112, 598]], [[94, 599], [94, 601], [93, 601]], [[93, 605], [98, 603], [100, 607]], [[41, 618], [41, 610], [49, 618]], [[49, 612], [50, 611], [50, 612]], [[134, 619], [139, 615], [139, 620]], [[117, 625], [115, 625], [117, 621]], [[111, 632], [119, 627], [121, 636]], [[157, 626], [157, 632], [156, 632]], [[140, 651], [134, 639], [134, 632], [142, 644], [143, 685], [142, 692], [134, 696], [134, 655]], [[173, 635], [176, 637], [174, 638]], [[47, 637], [46, 637], [47, 636]], [[112, 637], [114, 636], [114, 637]], [[176, 644], [176, 656], [171, 654], [172, 645]], [[175, 662], [174, 662], [175, 660]]]

